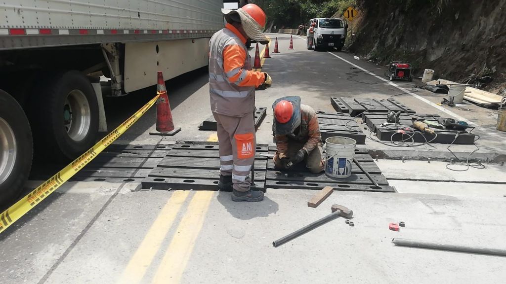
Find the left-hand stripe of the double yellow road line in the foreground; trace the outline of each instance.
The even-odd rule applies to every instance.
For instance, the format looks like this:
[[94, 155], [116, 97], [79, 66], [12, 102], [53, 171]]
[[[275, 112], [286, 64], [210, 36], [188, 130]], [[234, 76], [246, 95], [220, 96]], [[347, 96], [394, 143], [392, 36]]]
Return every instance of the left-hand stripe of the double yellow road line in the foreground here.
[[176, 191], [172, 194], [130, 259], [118, 283], [139, 283], [142, 280], [189, 193]]

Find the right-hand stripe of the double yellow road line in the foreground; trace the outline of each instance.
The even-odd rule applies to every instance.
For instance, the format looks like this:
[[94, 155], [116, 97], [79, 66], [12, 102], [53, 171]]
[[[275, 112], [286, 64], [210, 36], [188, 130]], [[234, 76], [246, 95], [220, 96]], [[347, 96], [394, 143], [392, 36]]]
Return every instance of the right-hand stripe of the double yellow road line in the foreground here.
[[196, 192], [156, 271], [153, 283], [179, 283], [214, 192]]

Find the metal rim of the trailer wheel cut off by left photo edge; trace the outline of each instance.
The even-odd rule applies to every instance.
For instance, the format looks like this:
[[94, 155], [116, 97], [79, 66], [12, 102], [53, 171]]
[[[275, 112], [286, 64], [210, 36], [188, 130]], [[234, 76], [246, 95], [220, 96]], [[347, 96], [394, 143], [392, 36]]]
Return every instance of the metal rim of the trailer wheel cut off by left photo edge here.
[[11, 126], [0, 117], [0, 183], [12, 173], [16, 165], [18, 147]]

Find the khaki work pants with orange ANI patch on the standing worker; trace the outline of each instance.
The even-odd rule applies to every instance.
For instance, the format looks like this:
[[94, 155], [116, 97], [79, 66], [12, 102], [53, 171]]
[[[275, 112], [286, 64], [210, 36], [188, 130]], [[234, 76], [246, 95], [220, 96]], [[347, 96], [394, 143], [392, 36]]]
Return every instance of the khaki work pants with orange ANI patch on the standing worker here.
[[220, 146], [220, 172], [232, 175], [234, 190], [249, 191], [249, 172], [255, 160], [257, 140], [253, 112], [243, 116], [227, 116], [213, 113], [216, 119]]

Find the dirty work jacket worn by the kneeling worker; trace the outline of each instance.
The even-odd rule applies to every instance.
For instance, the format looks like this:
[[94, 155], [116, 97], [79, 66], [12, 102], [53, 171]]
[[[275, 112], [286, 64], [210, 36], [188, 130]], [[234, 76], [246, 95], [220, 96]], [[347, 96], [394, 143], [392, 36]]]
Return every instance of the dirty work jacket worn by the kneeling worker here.
[[304, 143], [302, 149], [309, 154], [317, 146], [322, 146], [320, 126], [316, 112], [310, 106], [301, 105], [301, 126], [288, 135], [275, 134], [276, 148], [279, 152], [279, 158], [285, 158], [288, 151], [290, 140]]

